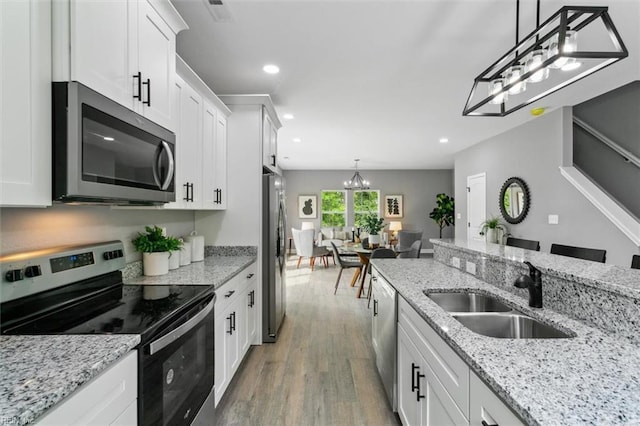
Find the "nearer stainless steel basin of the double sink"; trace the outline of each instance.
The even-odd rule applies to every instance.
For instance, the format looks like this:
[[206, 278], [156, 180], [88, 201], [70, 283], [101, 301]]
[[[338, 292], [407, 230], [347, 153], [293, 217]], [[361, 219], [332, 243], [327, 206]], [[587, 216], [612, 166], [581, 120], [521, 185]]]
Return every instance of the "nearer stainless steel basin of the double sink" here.
[[573, 337], [520, 313], [452, 314], [478, 334], [503, 339], [556, 339]]

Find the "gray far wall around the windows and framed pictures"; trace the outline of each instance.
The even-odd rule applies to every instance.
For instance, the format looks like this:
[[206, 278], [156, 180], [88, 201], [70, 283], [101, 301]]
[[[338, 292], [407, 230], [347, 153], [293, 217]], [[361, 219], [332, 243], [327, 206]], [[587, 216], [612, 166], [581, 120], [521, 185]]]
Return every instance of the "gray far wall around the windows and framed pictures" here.
[[[432, 247], [429, 238], [438, 238], [438, 225], [429, 218], [436, 206], [436, 195], [444, 192], [453, 195], [453, 170], [361, 170], [362, 177], [371, 182], [371, 189], [380, 191], [380, 199], [385, 195], [403, 196], [404, 214], [400, 219], [406, 230], [422, 230], [423, 249]], [[289, 228], [299, 228], [303, 221], [298, 217], [298, 195], [316, 194], [320, 203], [322, 190], [342, 190], [342, 182], [353, 176], [353, 170], [286, 170], [287, 220]], [[352, 194], [347, 191], [347, 203]], [[320, 228], [321, 212], [314, 220]], [[353, 216], [348, 219], [352, 225]], [[452, 227], [445, 228], [443, 238], [453, 236]]]

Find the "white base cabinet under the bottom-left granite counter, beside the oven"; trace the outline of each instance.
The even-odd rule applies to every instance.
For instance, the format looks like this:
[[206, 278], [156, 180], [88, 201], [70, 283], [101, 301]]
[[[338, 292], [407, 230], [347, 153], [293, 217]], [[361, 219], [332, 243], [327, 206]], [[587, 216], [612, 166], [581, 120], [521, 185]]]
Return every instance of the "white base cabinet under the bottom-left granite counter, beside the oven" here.
[[138, 353], [134, 350], [47, 411], [36, 423], [42, 426], [135, 425], [137, 373]]

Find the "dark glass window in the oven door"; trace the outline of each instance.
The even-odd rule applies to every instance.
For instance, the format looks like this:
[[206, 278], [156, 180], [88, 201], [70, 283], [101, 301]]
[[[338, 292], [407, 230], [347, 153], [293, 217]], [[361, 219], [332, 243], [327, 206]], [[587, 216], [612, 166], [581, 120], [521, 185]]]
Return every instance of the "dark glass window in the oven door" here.
[[170, 419], [176, 417], [178, 410], [191, 395], [194, 385], [202, 380], [206, 372], [207, 359], [202, 350], [207, 347], [205, 332], [205, 328], [200, 328], [163, 362], [163, 425], [168, 425]]

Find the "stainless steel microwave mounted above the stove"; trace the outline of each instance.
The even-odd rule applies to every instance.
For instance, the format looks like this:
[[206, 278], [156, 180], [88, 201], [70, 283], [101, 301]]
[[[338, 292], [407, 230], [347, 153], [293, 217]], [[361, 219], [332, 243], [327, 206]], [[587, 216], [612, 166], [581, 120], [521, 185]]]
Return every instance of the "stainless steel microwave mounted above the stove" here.
[[175, 201], [175, 135], [77, 82], [53, 83], [53, 200]]

